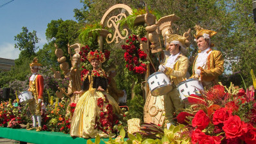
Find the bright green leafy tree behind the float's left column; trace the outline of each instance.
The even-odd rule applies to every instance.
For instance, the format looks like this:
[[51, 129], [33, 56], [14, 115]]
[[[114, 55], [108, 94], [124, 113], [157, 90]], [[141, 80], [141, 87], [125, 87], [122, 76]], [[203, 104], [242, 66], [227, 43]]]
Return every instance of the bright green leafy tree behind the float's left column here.
[[[49, 63], [49, 65], [56, 67], [57, 57], [54, 54], [54, 43], [56, 43], [63, 50], [67, 61], [70, 62], [67, 45], [68, 43], [70, 45], [78, 43], [79, 29], [81, 29], [81, 26], [82, 24], [78, 24], [74, 20], [51, 20], [47, 25], [45, 33], [49, 44], [44, 45], [42, 51], [38, 52], [38, 57], [40, 57], [38, 59], [44, 61], [45, 64]], [[51, 58], [45, 58], [45, 56], [50, 56]]]

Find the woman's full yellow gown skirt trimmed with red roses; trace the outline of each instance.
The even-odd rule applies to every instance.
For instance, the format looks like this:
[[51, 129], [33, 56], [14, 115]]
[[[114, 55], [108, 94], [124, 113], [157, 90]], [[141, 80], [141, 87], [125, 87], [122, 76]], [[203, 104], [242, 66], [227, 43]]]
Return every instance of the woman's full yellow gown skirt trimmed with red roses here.
[[95, 138], [99, 134], [100, 137], [108, 137], [118, 122], [115, 113], [122, 111], [107, 92], [93, 88], [93, 74], [86, 77], [90, 83], [89, 90], [84, 92], [77, 102], [71, 121], [70, 136]]

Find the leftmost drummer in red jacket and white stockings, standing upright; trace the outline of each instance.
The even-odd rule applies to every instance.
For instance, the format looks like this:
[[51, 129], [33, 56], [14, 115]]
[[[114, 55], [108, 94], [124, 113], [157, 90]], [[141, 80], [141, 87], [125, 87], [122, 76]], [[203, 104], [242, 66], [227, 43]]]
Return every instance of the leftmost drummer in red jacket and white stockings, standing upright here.
[[[30, 63], [32, 76], [29, 79], [29, 91], [32, 92], [34, 99], [29, 102], [29, 110], [33, 115], [33, 127], [28, 130], [36, 129], [36, 131], [42, 131], [41, 102], [43, 100], [44, 78], [38, 74], [38, 69], [41, 66], [42, 65], [37, 62], [36, 58], [34, 58], [33, 62]], [[36, 127], [36, 120], [38, 122], [38, 127]]]

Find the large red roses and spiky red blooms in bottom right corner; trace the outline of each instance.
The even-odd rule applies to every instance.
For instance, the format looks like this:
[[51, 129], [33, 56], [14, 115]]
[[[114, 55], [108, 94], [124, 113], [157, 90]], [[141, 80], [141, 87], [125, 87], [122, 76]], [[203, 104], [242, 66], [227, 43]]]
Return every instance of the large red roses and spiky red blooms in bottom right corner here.
[[249, 90], [216, 85], [189, 95], [189, 108], [177, 121], [187, 124], [192, 143], [256, 143], [256, 102]]

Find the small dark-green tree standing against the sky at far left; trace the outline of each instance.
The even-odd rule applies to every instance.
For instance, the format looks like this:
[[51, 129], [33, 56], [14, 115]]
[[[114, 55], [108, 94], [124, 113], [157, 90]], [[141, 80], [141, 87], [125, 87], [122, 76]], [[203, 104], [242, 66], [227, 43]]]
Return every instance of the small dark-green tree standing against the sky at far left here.
[[26, 27], [22, 27], [22, 32], [17, 36], [14, 36], [14, 40], [17, 41], [15, 48], [18, 48], [21, 52], [19, 58], [31, 58], [35, 56], [35, 51], [38, 47], [35, 44], [40, 40], [36, 36], [36, 31], [28, 32]]

